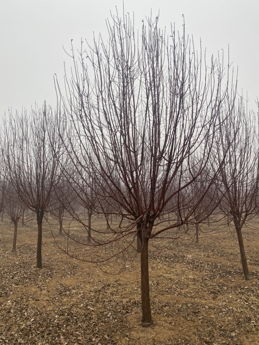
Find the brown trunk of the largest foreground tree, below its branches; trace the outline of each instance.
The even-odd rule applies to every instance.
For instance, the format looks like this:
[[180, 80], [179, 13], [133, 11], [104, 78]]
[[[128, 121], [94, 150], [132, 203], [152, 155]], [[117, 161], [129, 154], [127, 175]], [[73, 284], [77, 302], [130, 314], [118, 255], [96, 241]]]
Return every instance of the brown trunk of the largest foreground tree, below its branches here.
[[142, 238], [141, 248], [141, 302], [142, 302], [142, 325], [151, 326], [152, 316], [149, 296], [148, 274], [148, 238]]

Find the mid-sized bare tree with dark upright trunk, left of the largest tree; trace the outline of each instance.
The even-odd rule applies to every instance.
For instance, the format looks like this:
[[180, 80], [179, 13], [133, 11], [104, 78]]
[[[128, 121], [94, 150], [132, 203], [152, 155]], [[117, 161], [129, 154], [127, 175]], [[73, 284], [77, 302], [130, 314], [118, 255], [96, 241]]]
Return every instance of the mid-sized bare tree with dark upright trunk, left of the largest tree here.
[[52, 110], [45, 104], [42, 109], [32, 110], [30, 116], [26, 112], [10, 114], [3, 127], [2, 152], [9, 170], [9, 183], [21, 203], [36, 214], [37, 268], [42, 268], [42, 220], [60, 177], [57, 170], [60, 140], [54, 130], [52, 136], [47, 133], [47, 125], [53, 127], [52, 121]]

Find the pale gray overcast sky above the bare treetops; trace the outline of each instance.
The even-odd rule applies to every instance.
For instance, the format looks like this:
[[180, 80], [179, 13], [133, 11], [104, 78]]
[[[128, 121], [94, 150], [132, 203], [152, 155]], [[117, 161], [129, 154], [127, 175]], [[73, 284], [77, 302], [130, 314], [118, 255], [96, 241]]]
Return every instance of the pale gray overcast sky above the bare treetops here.
[[[63, 83], [64, 60], [71, 62], [63, 47], [80, 48], [81, 38], [92, 42], [93, 32], [106, 34], [105, 19], [115, 6], [122, 15], [122, 0], [0, 0], [0, 117], [8, 108], [20, 112], [35, 102], [55, 107], [53, 75]], [[185, 31], [217, 55], [224, 49], [238, 66], [239, 92], [248, 92], [249, 108], [256, 110], [259, 97], [259, 0], [124, 0], [125, 12], [142, 19], [160, 11], [160, 27]], [[169, 32], [169, 31], [168, 31]], [[197, 47], [197, 46], [196, 46]], [[198, 49], [198, 47], [197, 47]]]

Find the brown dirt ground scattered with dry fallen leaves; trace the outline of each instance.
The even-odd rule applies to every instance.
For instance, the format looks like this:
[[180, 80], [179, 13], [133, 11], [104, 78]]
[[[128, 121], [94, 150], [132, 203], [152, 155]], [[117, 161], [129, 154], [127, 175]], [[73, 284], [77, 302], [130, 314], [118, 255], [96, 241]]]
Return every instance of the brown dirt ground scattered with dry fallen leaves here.
[[[105, 222], [96, 220], [94, 226]], [[227, 230], [201, 234], [198, 245], [189, 240], [161, 249], [165, 242], [151, 242], [154, 325], [145, 328], [140, 254], [130, 247], [97, 266], [63, 253], [56, 242], [65, 248], [66, 237], [58, 236], [57, 224], [51, 230], [55, 240], [50, 227], [44, 228], [43, 268], [37, 269], [36, 223], [18, 227], [16, 253], [11, 253], [13, 226], [8, 219], [0, 223], [0, 344], [259, 344], [259, 231], [243, 230], [248, 282], [237, 236]], [[69, 246], [75, 255], [77, 249]], [[103, 252], [81, 246], [77, 257], [115, 249], [114, 244]]]

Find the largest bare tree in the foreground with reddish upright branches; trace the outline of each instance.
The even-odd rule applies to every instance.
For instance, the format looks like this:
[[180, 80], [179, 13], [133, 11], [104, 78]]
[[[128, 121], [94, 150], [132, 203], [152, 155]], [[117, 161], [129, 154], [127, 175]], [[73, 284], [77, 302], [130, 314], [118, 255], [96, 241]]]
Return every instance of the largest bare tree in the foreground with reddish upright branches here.
[[[150, 325], [148, 241], [186, 223], [206, 194], [191, 205], [190, 198], [179, 197], [207, 166], [223, 121], [226, 71], [213, 58], [207, 69], [184, 29], [172, 27], [167, 37], [158, 17], [143, 23], [141, 36], [128, 15], [117, 14], [107, 28], [108, 42], [99, 37], [86, 49], [82, 43], [79, 60], [71, 47], [74, 72], [66, 77], [63, 98], [70, 127], [63, 142], [75, 167], [93, 174], [99, 204], [114, 200], [113, 213], [122, 221], [114, 230], [110, 226], [109, 242], [130, 234], [132, 241], [140, 239], [142, 322]], [[56, 86], [62, 98], [57, 80]], [[74, 188], [80, 184], [74, 179]], [[108, 219], [111, 211], [102, 211]], [[178, 219], [168, 224], [162, 216], [176, 211]], [[95, 238], [95, 245], [103, 244]]]

